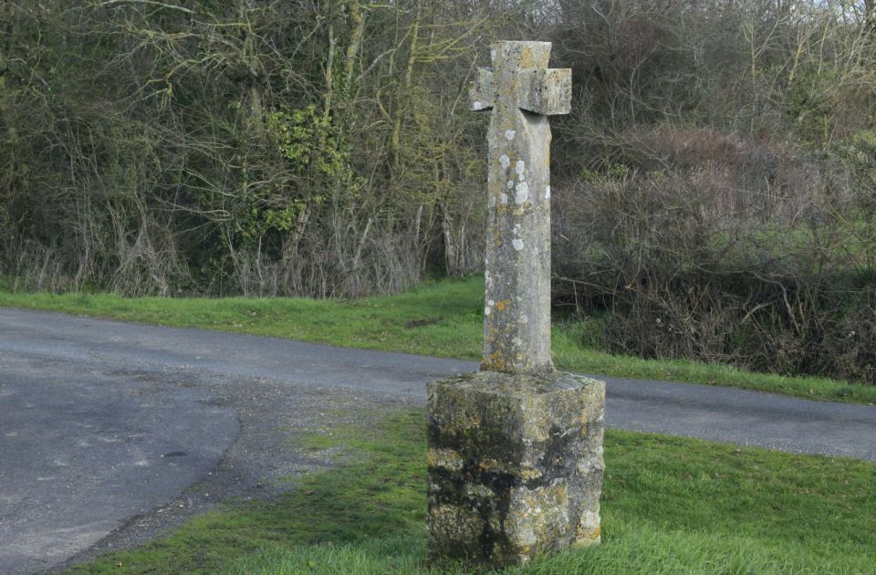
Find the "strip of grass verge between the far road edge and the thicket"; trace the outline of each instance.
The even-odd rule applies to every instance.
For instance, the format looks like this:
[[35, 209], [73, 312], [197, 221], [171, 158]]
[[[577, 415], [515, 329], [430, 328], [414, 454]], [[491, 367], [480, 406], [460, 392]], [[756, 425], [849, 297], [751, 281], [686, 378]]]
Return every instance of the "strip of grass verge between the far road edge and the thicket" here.
[[[445, 280], [397, 296], [303, 298], [121, 298], [108, 294], [14, 293], [0, 306], [44, 309], [165, 326], [222, 329], [332, 345], [476, 360], [483, 326], [483, 278]], [[876, 387], [740, 371], [696, 361], [646, 361], [587, 347], [595, 322], [558, 322], [554, 360], [568, 371], [727, 385], [838, 402], [876, 404]]]

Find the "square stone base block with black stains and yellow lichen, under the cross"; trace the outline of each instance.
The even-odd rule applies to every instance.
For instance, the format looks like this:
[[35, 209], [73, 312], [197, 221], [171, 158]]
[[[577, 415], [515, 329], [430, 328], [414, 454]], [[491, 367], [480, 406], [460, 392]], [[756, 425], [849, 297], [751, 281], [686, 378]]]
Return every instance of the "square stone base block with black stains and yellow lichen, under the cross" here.
[[480, 371], [429, 385], [429, 557], [497, 568], [600, 541], [605, 384]]

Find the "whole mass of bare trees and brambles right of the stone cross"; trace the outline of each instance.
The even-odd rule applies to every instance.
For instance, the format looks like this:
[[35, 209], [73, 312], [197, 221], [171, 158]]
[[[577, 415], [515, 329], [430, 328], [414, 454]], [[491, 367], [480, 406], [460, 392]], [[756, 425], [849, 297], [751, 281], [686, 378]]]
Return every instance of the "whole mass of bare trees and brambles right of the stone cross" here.
[[872, 6], [623, 6], [559, 35], [558, 298], [610, 350], [876, 382]]

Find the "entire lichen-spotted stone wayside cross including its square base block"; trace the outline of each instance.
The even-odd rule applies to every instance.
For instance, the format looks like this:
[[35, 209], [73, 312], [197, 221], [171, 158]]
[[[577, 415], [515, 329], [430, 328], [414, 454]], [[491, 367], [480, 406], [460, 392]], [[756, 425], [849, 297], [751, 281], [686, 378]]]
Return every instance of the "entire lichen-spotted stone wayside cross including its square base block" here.
[[550, 44], [500, 42], [473, 110], [489, 144], [484, 361], [428, 386], [429, 557], [491, 569], [600, 542], [605, 384], [550, 361], [550, 127], [569, 70]]

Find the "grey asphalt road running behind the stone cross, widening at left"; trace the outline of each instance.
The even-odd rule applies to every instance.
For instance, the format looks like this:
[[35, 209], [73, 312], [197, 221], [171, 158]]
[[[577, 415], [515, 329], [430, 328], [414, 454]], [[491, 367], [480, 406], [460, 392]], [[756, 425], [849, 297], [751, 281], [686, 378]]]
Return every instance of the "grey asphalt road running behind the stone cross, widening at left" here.
[[[0, 309], [0, 573], [148, 538], [218, 497], [318, 467], [277, 437], [422, 404], [469, 361]], [[876, 408], [607, 383], [612, 427], [876, 460]], [[290, 431], [291, 430], [291, 431]], [[249, 497], [249, 495], [247, 495]]]

